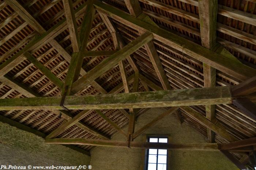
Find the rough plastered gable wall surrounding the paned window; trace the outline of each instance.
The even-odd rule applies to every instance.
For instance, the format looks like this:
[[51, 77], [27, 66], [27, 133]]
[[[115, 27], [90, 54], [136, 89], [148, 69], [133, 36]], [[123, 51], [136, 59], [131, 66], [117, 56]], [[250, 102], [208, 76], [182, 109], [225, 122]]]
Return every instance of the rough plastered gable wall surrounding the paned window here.
[[[152, 108], [141, 115], [135, 131], [150, 122], [165, 110]], [[127, 131], [127, 127], [124, 128]], [[174, 114], [166, 116], [160, 122], [140, 135], [135, 141], [145, 141], [146, 134], [168, 134], [174, 143], [207, 143], [206, 139], [187, 123], [180, 124]], [[123, 135], [116, 133], [112, 140], [125, 140]], [[95, 147], [91, 150], [93, 170], [140, 170], [143, 168], [142, 149]], [[169, 151], [168, 166], [171, 170], [237, 170], [220, 152], [207, 151]]]

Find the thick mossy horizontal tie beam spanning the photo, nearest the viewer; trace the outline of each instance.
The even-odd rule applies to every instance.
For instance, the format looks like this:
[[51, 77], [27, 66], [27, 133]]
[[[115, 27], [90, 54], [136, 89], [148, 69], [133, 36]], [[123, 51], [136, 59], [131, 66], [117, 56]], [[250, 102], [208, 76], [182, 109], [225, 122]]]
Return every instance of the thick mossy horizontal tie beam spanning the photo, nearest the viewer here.
[[[231, 104], [230, 87], [192, 88], [122, 94], [66, 96], [69, 110], [120, 109]], [[0, 99], [0, 110], [61, 110], [61, 96], [44, 98]]]

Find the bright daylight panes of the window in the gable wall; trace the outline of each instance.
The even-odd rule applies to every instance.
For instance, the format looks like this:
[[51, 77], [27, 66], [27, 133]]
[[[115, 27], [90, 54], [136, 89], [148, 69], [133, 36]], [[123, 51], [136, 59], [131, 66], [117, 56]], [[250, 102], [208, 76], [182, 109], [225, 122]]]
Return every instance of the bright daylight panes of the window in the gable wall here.
[[[149, 142], [167, 143], [167, 137], [148, 137]], [[147, 170], [167, 170], [167, 150], [148, 149]]]

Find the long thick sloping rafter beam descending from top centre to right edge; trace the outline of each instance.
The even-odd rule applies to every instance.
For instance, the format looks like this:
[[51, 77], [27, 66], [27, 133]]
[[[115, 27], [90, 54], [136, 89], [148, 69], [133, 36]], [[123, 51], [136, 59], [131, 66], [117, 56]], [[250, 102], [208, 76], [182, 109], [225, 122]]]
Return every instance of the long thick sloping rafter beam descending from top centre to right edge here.
[[150, 31], [154, 35], [154, 39], [157, 39], [166, 45], [173, 47], [184, 54], [192, 56], [203, 63], [210, 65], [226, 74], [236, 77], [240, 80], [246, 80], [256, 75], [256, 70], [245, 66], [244, 64], [233, 60], [230, 62], [230, 58], [223, 56], [216, 52], [213, 52], [199, 44], [193, 43], [183, 37], [175, 35], [165, 29], [159, 28], [155, 25], [148, 24], [138, 18], [131, 15], [127, 15], [124, 11], [116, 9], [111, 5], [104, 4], [100, 1], [94, 1], [94, 5], [97, 10], [105, 13], [109, 17], [120, 21], [121, 23], [140, 30], [140, 31]]

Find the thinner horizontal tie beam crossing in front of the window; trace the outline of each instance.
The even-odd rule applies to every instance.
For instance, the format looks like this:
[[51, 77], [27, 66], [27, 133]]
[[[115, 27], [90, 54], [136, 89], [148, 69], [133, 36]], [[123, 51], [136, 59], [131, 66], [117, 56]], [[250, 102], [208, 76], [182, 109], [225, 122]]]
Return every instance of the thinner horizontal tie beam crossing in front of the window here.
[[[92, 145], [92, 146], [110, 146], [110, 147], [127, 147], [127, 141], [106, 141], [98, 139], [82, 138], [54, 138], [45, 139], [49, 144], [74, 144], [74, 145]], [[154, 143], [154, 142], [133, 142], [130, 141], [131, 148], [138, 149], [169, 149], [169, 150], [204, 150], [218, 151], [217, 143]]]

